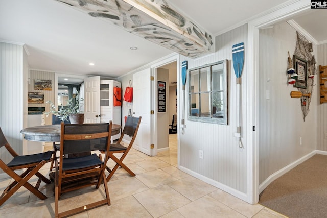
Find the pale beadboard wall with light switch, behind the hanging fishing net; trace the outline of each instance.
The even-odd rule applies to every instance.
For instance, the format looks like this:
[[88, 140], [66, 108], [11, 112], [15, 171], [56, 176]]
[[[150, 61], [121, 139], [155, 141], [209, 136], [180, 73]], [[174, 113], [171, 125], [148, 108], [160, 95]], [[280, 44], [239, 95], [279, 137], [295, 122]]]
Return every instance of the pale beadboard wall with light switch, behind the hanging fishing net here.
[[[260, 30], [259, 184], [317, 148], [317, 86], [313, 88], [305, 122], [300, 99], [290, 97], [297, 88], [288, 84], [287, 52], [292, 56], [295, 44], [296, 31], [286, 22]], [[313, 50], [315, 55], [316, 46]], [[317, 81], [316, 76], [315, 84]], [[270, 99], [266, 99], [267, 90]]]

